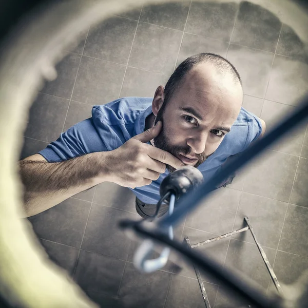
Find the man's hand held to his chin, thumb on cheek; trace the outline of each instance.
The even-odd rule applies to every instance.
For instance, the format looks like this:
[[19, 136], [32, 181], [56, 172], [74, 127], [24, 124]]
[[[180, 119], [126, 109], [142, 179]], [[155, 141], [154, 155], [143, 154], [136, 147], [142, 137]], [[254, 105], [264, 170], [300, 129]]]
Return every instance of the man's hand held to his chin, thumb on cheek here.
[[157, 137], [162, 128], [159, 121], [155, 126], [132, 137], [119, 148], [104, 152], [108, 181], [124, 187], [135, 188], [149, 185], [165, 173], [166, 164], [178, 169], [184, 166], [181, 160], [169, 152], [147, 144]]

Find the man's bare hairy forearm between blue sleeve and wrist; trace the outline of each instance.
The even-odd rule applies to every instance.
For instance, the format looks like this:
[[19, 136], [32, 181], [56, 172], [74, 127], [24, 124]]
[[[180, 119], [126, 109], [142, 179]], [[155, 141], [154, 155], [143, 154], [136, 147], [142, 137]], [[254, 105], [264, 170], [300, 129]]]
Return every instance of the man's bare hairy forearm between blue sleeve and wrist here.
[[90, 187], [107, 181], [104, 152], [63, 162], [19, 162], [25, 216], [33, 216]]

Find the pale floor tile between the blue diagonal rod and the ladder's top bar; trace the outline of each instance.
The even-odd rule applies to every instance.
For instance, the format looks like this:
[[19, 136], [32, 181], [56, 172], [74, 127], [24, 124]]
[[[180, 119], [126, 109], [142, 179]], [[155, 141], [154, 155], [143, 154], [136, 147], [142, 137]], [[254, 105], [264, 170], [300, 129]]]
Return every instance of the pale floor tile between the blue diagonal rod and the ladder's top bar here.
[[219, 235], [230, 232], [240, 196], [241, 191], [238, 190], [229, 188], [217, 190], [188, 214], [185, 226]]

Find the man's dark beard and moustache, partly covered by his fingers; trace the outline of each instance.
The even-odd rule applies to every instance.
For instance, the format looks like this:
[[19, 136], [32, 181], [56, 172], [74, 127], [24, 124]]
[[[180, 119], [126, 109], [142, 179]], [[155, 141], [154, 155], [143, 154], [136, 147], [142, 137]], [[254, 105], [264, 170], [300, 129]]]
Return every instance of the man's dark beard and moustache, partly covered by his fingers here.
[[[171, 145], [170, 139], [166, 135], [166, 132], [165, 132], [165, 129], [164, 129], [164, 120], [163, 120], [163, 113], [164, 113], [164, 109], [165, 109], [164, 105], [165, 105], [165, 103], [163, 104], [161, 109], [158, 111], [157, 117], [156, 117], [155, 122], [154, 122], [154, 124], [156, 124], [158, 121], [162, 121], [162, 129], [161, 129], [161, 132], [159, 133], [159, 135], [153, 139], [153, 143], [157, 148], [164, 150], [164, 151], [167, 151], [177, 158], [178, 158], [179, 154], [182, 154], [184, 156], [189, 155], [190, 152], [191, 152], [191, 148], [189, 146], [183, 147], [183, 146], [180, 146], [180, 145], [175, 145], [175, 146]], [[201, 153], [201, 154], [193, 153], [193, 155], [197, 156], [197, 158], [198, 158], [198, 161], [194, 165], [194, 167], [198, 168], [198, 166], [200, 166], [202, 163], [204, 163], [205, 160], [213, 154], [214, 154], [214, 152], [211, 153], [210, 155], [205, 155], [204, 153]], [[166, 168], [169, 172], [174, 172], [176, 170], [174, 167], [172, 167], [168, 164], [166, 164]]]

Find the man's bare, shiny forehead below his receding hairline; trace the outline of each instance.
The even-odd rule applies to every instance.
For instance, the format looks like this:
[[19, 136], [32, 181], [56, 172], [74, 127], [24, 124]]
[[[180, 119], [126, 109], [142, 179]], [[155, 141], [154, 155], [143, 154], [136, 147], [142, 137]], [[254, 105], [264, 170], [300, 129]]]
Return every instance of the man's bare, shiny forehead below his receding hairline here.
[[186, 74], [174, 98], [174, 108], [191, 107], [203, 115], [205, 121], [219, 118], [233, 124], [240, 112], [243, 92], [233, 76], [218, 73], [206, 64]]

